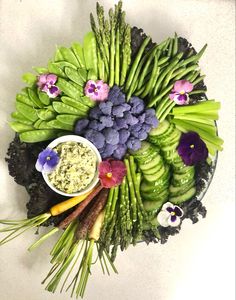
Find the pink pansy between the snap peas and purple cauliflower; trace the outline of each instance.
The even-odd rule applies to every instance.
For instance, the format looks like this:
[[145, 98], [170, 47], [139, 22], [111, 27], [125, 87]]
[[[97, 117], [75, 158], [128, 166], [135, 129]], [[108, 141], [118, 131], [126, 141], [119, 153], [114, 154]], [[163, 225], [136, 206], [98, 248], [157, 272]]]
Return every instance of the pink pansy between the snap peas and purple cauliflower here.
[[89, 80], [85, 85], [84, 93], [94, 101], [104, 101], [108, 97], [109, 85], [103, 80]]

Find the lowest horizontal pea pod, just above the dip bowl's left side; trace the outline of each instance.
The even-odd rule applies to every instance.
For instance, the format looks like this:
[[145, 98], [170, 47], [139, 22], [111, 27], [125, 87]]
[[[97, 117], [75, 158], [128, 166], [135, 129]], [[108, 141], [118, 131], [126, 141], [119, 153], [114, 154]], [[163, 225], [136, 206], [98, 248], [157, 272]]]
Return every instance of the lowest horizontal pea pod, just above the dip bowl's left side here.
[[51, 140], [55, 138], [57, 134], [58, 130], [54, 129], [31, 130], [20, 133], [20, 140], [26, 143], [37, 143]]

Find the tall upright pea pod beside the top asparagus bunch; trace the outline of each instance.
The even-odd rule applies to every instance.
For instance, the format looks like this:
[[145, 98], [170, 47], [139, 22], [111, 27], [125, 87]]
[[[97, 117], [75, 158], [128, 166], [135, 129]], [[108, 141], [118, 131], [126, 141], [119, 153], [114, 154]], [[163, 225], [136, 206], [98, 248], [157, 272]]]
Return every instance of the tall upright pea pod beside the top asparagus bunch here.
[[95, 35], [92, 31], [85, 35], [83, 46], [86, 69], [94, 69], [94, 72], [97, 76], [97, 43]]

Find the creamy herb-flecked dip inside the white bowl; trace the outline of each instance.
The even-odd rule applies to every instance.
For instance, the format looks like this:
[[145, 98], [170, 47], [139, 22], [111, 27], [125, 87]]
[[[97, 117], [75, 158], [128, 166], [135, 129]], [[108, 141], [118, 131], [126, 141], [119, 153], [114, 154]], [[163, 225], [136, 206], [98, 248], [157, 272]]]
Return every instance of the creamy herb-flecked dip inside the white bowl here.
[[77, 142], [61, 143], [53, 150], [58, 153], [60, 160], [48, 175], [51, 184], [68, 194], [84, 190], [92, 182], [97, 169], [93, 150]]

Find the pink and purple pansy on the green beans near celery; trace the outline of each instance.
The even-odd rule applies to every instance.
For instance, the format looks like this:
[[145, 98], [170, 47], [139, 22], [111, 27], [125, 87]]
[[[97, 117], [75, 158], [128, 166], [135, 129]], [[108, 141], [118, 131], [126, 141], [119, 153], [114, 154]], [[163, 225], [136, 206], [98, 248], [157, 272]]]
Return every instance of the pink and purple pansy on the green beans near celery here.
[[193, 84], [188, 80], [178, 80], [174, 84], [169, 97], [178, 105], [185, 105], [189, 102], [188, 93], [193, 90]]

